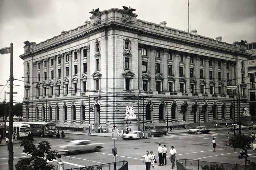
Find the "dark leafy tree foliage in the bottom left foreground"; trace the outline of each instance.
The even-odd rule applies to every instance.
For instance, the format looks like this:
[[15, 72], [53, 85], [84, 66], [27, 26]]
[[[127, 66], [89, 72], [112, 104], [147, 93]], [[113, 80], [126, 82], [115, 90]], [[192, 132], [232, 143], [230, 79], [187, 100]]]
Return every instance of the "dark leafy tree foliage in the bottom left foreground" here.
[[24, 153], [31, 154], [29, 158], [19, 158], [15, 165], [16, 170], [51, 170], [54, 165], [48, 164], [48, 161], [60, 158], [56, 150], [51, 151], [51, 145], [48, 141], [41, 141], [36, 148], [31, 140], [24, 139], [20, 145], [24, 146]]

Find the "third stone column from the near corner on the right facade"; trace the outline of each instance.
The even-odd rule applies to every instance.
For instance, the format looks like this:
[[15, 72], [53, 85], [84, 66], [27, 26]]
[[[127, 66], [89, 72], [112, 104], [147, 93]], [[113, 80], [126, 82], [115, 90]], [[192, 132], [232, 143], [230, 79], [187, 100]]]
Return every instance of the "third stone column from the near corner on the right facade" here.
[[163, 91], [168, 91], [168, 49], [163, 50], [163, 58], [162, 58], [162, 72], [163, 72]]

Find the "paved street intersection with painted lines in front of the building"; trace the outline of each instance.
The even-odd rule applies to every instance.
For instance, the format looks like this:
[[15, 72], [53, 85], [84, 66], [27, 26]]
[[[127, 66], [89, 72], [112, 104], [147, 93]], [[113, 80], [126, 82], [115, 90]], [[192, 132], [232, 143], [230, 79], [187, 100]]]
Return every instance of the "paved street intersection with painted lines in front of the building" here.
[[[242, 133], [250, 135], [251, 131], [243, 130]], [[157, 148], [158, 143], [166, 145], [168, 151], [173, 145], [177, 150], [176, 159], [199, 159], [209, 162], [221, 162], [221, 163], [238, 163], [244, 164], [244, 160], [239, 160], [237, 157], [240, 150], [236, 150], [226, 146], [227, 131], [217, 131], [210, 134], [172, 134], [163, 137], [154, 137], [138, 140], [122, 140], [115, 141], [115, 145], [118, 149], [116, 161], [126, 160], [129, 162], [129, 170], [145, 169], [144, 162], [141, 156], [145, 154], [145, 151], [153, 150], [158, 157]], [[211, 141], [212, 137], [215, 137], [217, 141], [216, 152], [212, 152]], [[114, 161], [112, 155], [112, 148], [114, 147], [114, 140], [111, 137], [105, 136], [89, 136], [78, 134], [67, 134], [65, 139], [56, 139], [54, 137], [40, 138], [34, 137], [34, 143], [38, 144], [41, 140], [48, 140], [51, 143], [52, 149], [56, 149], [60, 145], [63, 145], [71, 140], [76, 139], [90, 139], [93, 142], [103, 142], [104, 148], [100, 152], [80, 153], [74, 155], [62, 155], [65, 163], [65, 169], [78, 168], [83, 166], [99, 165]], [[23, 148], [20, 144], [14, 145], [14, 163], [19, 160], [20, 157], [27, 157], [22, 151]], [[248, 151], [250, 154], [249, 159], [256, 158], [255, 151]], [[169, 158], [169, 157], [168, 157]], [[170, 160], [168, 160], [167, 166], [156, 166], [156, 170], [170, 169]], [[158, 159], [157, 159], [158, 161]], [[159, 161], [158, 161], [159, 162]], [[51, 164], [56, 165], [56, 162]], [[1, 168], [2, 167], [2, 168]], [[0, 169], [8, 169], [8, 151], [6, 146], [0, 147]]]

